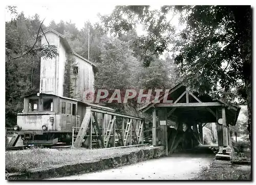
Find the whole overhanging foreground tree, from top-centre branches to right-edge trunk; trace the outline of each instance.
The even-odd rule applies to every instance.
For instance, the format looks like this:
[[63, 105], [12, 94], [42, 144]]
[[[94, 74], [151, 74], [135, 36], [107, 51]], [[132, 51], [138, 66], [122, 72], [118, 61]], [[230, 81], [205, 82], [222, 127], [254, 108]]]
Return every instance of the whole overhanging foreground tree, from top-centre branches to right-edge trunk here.
[[[167, 18], [180, 15], [186, 28], [178, 35]], [[174, 17], [173, 16], [173, 17]], [[143, 25], [146, 34], [136, 39], [148, 66], [153, 57], [176, 51], [175, 63], [184, 83], [200, 93], [214, 93], [220, 86], [226, 99], [231, 88], [243, 93], [248, 105], [248, 130], [251, 125], [251, 8], [250, 6], [117, 6], [110, 16], [102, 16], [105, 28], [120, 35]], [[246, 93], [244, 93], [246, 92]], [[242, 94], [240, 94], [242, 95]], [[233, 96], [234, 98], [234, 96]], [[249, 135], [250, 137], [250, 135]]]

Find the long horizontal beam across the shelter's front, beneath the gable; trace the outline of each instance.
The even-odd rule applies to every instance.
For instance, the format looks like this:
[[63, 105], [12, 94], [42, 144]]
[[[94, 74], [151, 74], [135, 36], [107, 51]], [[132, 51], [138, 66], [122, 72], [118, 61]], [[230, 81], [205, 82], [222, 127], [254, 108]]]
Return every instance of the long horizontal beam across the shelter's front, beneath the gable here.
[[219, 102], [202, 102], [202, 103], [158, 103], [156, 107], [214, 107], [221, 106]]

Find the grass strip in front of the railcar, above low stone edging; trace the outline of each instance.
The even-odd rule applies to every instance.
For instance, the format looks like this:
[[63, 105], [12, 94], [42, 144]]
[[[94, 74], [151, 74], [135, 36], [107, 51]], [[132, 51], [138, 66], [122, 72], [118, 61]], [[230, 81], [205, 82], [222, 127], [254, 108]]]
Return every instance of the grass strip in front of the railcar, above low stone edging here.
[[31, 148], [26, 150], [6, 151], [5, 167], [8, 173], [26, 172], [33, 168], [51, 168], [56, 165], [86, 163], [100, 158], [129, 154], [149, 147], [90, 149], [47, 149]]

